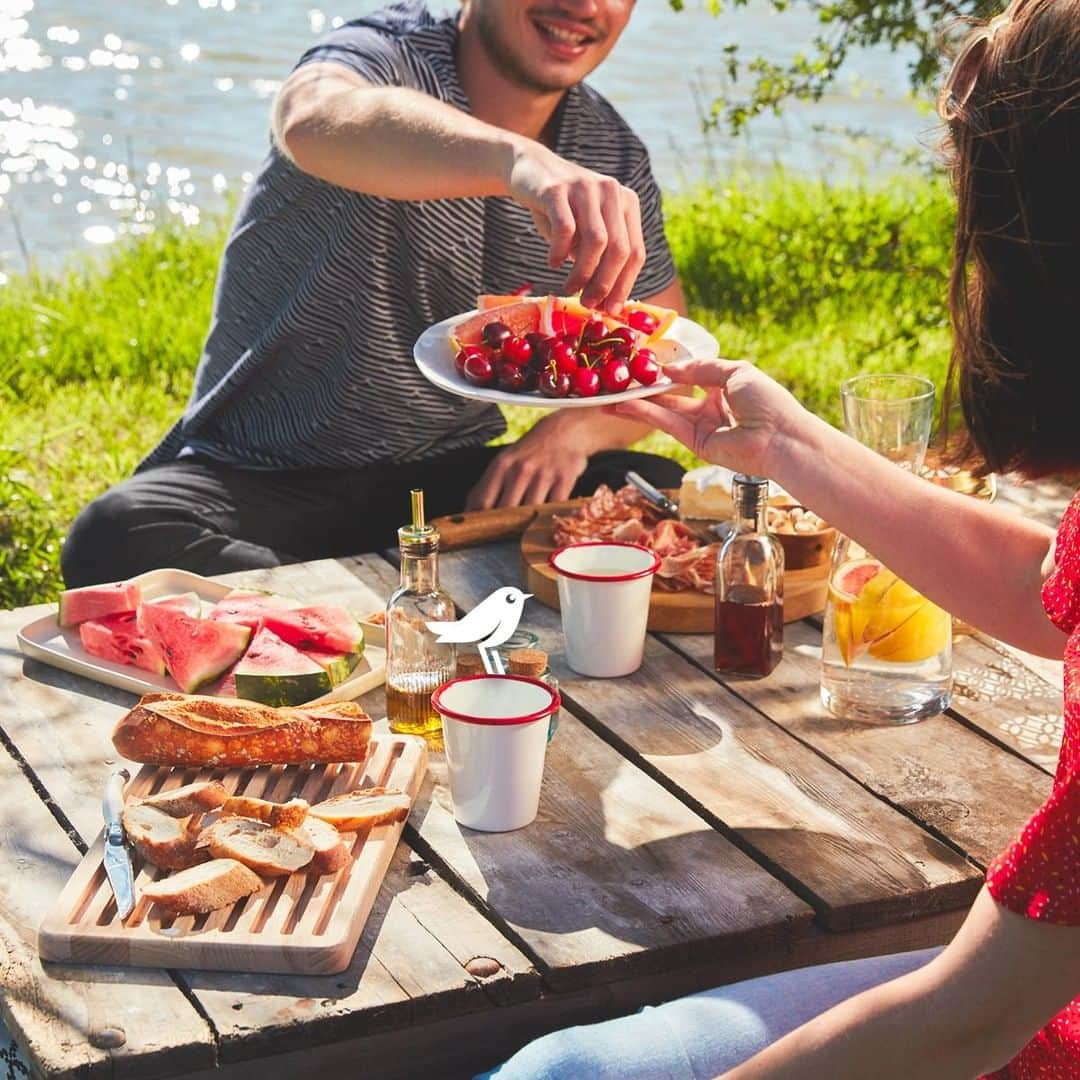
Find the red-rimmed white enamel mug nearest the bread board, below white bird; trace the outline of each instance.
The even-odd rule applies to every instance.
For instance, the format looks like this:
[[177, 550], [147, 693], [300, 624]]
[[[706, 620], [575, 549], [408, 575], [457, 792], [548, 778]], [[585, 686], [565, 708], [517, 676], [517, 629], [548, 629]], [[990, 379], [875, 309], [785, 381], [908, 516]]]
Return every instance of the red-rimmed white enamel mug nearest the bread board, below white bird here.
[[524, 675], [468, 675], [441, 686], [431, 703], [443, 718], [454, 816], [484, 833], [528, 825], [558, 691]]

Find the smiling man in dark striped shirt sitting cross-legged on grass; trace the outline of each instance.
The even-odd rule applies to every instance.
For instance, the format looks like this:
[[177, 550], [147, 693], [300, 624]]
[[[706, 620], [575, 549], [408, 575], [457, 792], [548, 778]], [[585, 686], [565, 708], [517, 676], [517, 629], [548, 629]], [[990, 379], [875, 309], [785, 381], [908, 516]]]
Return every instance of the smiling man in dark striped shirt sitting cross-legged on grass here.
[[556, 410], [517, 443], [499, 410], [435, 389], [413, 342], [529, 283], [678, 310], [648, 153], [582, 80], [633, 0], [400, 3], [300, 58], [221, 261], [183, 417], [91, 503], [69, 586], [157, 566], [202, 573], [373, 550], [407, 491], [433, 514], [565, 499], [635, 468], [646, 429]]

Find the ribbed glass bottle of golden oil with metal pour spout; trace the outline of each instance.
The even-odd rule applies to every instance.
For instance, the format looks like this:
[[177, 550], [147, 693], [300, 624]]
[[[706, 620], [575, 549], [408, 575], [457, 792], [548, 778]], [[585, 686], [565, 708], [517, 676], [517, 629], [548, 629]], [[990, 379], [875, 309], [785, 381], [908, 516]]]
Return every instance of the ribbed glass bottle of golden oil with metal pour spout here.
[[454, 678], [454, 646], [440, 645], [429, 622], [453, 622], [454, 602], [438, 588], [438, 530], [423, 514], [414, 488], [413, 524], [397, 530], [401, 585], [387, 602], [387, 718], [390, 730], [442, 742], [442, 720], [431, 694]]

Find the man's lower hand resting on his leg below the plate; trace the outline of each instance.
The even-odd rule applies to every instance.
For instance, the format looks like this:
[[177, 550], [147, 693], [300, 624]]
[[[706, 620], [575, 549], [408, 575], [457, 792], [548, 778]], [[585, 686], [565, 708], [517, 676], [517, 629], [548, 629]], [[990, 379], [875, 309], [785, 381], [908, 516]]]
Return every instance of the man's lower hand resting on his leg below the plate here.
[[468, 510], [519, 507], [568, 499], [585, 471], [589, 455], [580, 441], [565, 438], [551, 421], [541, 420], [487, 467], [465, 500]]

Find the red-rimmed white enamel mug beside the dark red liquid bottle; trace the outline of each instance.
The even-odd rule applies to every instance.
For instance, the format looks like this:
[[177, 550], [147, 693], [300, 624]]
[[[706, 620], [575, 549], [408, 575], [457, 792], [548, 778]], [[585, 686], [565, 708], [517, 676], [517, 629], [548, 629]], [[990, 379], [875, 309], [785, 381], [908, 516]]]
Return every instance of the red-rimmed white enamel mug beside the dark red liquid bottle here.
[[559, 548], [548, 562], [558, 575], [566, 662], [596, 678], [636, 672], [660, 556], [636, 543], [591, 541]]

